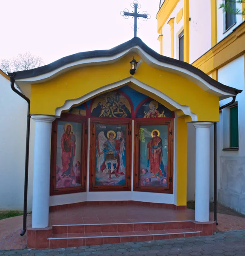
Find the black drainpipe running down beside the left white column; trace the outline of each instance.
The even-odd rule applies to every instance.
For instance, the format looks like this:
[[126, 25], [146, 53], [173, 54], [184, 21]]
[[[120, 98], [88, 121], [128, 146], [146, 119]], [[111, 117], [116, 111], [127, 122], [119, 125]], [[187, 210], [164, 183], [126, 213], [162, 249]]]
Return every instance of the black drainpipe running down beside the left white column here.
[[26, 162], [25, 162], [25, 187], [24, 187], [24, 207], [23, 207], [23, 230], [20, 236], [24, 236], [26, 233], [26, 218], [27, 218], [27, 191], [28, 191], [28, 168], [29, 168], [29, 142], [30, 142], [30, 122], [31, 122], [31, 115], [30, 115], [30, 100], [20, 91], [18, 91], [14, 87], [14, 73], [8, 73], [10, 76], [10, 83], [12, 90], [17, 93], [21, 98], [25, 99], [27, 102], [27, 127], [26, 127]]

